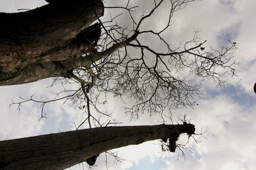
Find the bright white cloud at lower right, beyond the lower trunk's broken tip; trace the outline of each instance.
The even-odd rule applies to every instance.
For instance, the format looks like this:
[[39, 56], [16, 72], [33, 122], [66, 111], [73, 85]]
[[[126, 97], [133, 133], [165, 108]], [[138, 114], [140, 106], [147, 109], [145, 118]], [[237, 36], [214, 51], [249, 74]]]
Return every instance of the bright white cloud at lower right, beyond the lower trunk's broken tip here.
[[[208, 131], [199, 143], [196, 155], [170, 160], [166, 169], [254, 169], [256, 146], [255, 107], [244, 108], [228, 96], [202, 101], [190, 114], [196, 127]], [[188, 154], [189, 155], [189, 154]], [[171, 166], [172, 164], [172, 166]]]

